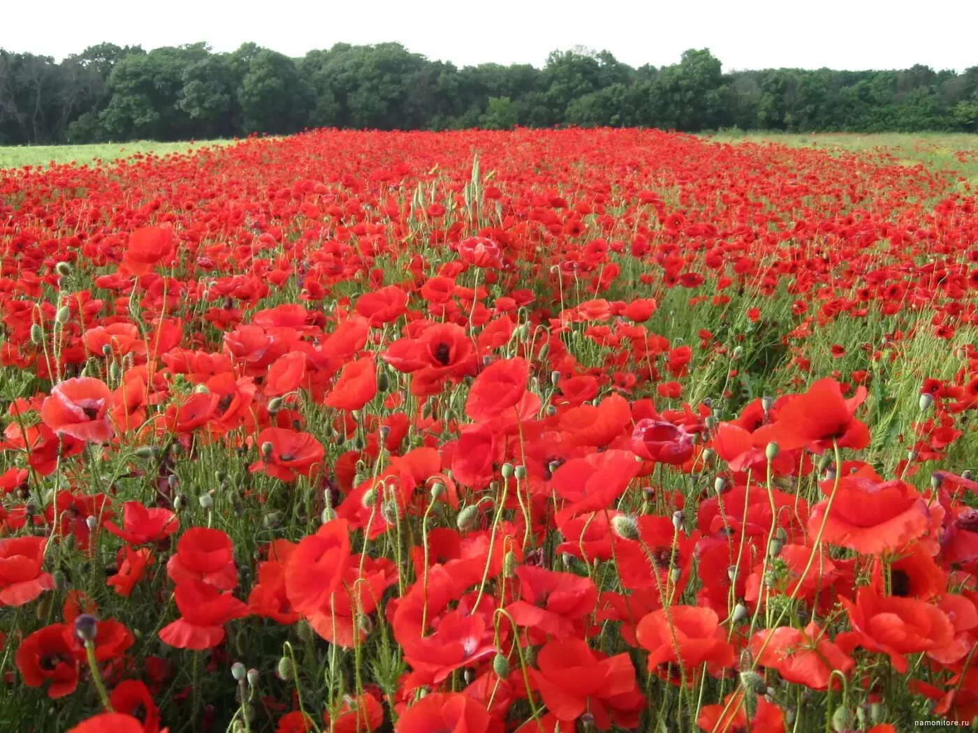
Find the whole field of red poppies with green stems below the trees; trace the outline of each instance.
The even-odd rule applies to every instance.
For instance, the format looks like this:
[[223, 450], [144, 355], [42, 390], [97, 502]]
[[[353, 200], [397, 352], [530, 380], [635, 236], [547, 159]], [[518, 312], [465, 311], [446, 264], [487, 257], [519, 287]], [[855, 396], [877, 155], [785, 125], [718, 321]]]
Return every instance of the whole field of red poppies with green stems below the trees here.
[[629, 129], [0, 171], [0, 729], [970, 724], [976, 203]]

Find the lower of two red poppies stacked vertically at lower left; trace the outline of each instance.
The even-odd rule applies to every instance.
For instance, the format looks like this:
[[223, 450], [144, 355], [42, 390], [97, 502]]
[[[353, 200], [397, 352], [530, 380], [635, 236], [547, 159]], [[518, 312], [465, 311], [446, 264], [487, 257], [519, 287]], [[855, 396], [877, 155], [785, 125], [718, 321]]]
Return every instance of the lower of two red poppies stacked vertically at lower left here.
[[247, 616], [247, 606], [230, 592], [197, 580], [173, 591], [182, 618], [159, 630], [159, 638], [177, 649], [211, 649], [224, 640], [224, 625]]

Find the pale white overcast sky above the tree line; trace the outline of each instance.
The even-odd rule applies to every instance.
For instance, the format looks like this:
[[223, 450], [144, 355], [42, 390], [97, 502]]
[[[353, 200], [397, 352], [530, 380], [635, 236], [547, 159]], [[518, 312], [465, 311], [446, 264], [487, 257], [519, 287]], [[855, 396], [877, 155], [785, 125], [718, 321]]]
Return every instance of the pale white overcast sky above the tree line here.
[[[147, 50], [245, 41], [292, 57], [398, 41], [431, 60], [543, 65], [555, 49], [633, 66], [709, 48], [725, 71], [978, 65], [978, 0], [0, 0], [0, 48], [60, 60], [111, 41]], [[43, 8], [43, 15], [40, 12]]]

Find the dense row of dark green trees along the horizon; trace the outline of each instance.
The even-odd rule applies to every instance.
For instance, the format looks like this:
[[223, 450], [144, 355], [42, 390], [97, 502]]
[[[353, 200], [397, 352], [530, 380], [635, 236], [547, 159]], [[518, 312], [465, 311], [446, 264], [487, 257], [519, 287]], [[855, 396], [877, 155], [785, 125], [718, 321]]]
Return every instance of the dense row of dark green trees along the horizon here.
[[337, 43], [301, 59], [253, 43], [232, 53], [103, 43], [59, 63], [0, 49], [0, 145], [517, 125], [978, 131], [978, 66], [724, 73], [707, 49], [633, 68], [576, 48], [542, 68], [460, 68], [398, 43]]

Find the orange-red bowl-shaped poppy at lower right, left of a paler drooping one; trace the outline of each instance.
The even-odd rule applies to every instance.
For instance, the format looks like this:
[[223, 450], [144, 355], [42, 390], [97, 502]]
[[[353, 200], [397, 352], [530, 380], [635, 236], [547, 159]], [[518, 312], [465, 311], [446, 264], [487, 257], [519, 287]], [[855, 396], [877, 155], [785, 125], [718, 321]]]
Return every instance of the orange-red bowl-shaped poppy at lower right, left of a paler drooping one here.
[[719, 674], [733, 665], [733, 644], [715, 611], [695, 606], [672, 606], [653, 611], [636, 630], [649, 651], [648, 670], [672, 682], [693, 684], [697, 668], [706, 665]]

